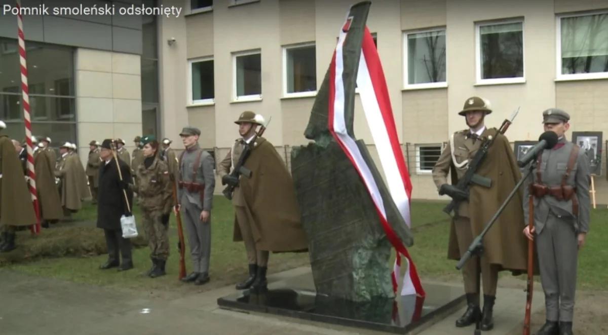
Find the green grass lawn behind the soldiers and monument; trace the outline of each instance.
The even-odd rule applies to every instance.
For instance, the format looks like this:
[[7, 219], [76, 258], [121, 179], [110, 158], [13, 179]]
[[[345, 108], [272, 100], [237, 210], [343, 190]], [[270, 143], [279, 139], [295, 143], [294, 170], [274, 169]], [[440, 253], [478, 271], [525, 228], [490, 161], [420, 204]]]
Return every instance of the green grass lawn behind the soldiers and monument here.
[[[449, 237], [449, 221], [441, 211], [444, 202], [413, 201], [412, 226], [415, 234], [414, 246], [410, 254], [416, 263], [421, 278], [446, 278], [459, 280], [460, 272], [456, 271], [455, 261], [447, 260], [447, 241]], [[140, 223], [139, 210], [134, 210]], [[74, 215], [74, 219], [95, 218], [96, 209], [91, 204]], [[174, 216], [170, 222], [171, 256], [167, 263], [168, 274], [155, 279], [147, 278], [143, 272], [150, 268], [149, 251], [147, 247], [133, 250], [136, 268], [126, 272], [115, 270], [100, 271], [99, 264], [106, 260], [106, 255], [94, 257], [63, 257], [43, 258], [41, 260], [10, 264], [5, 268], [27, 274], [41, 275], [71, 280], [79, 283], [91, 283], [103, 286], [120, 286], [132, 289], [152, 291], [182, 291], [207, 290], [224, 285], [230, 285], [246, 276], [246, 254], [243, 243], [232, 241], [233, 210], [229, 201], [221, 196], [214, 199], [212, 211], [212, 257], [210, 264], [209, 284], [194, 287], [182, 285], [176, 280], [178, 274], [177, 233]], [[53, 230], [51, 228], [50, 230]], [[50, 231], [49, 230], [49, 231]], [[100, 229], [98, 234], [103, 237]], [[43, 233], [46, 230], [43, 230]], [[143, 233], [140, 230], [140, 233]], [[606, 290], [608, 283], [608, 248], [604, 241], [608, 238], [608, 210], [592, 210], [592, 224], [587, 244], [579, 254], [578, 285], [583, 289]], [[192, 269], [186, 252], [187, 269]], [[308, 265], [308, 254], [274, 254], [271, 255], [269, 272], [278, 272], [297, 266]], [[525, 278], [525, 277], [520, 277]]]

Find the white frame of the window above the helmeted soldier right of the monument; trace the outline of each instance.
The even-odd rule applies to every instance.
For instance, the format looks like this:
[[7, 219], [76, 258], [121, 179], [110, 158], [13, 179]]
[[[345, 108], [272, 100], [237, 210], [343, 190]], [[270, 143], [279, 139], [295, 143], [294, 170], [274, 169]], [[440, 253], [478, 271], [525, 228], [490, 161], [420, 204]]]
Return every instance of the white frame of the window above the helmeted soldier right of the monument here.
[[[480, 28], [484, 26], [496, 26], [498, 24], [522, 24], [522, 76], [513, 78], [491, 78], [482, 79], [482, 47]], [[475, 22], [475, 85], [500, 85], [500, 84], [520, 84], [526, 82], [526, 40], [525, 40], [525, 21], [523, 18], [502, 19], [494, 21]]]

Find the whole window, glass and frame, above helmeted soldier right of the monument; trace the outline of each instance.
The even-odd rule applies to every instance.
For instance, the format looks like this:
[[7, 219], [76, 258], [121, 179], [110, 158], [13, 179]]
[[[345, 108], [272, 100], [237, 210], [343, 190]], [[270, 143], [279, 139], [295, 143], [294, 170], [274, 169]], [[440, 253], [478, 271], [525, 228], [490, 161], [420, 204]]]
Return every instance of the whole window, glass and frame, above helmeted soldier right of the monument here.
[[523, 83], [523, 22], [477, 24], [477, 83]]

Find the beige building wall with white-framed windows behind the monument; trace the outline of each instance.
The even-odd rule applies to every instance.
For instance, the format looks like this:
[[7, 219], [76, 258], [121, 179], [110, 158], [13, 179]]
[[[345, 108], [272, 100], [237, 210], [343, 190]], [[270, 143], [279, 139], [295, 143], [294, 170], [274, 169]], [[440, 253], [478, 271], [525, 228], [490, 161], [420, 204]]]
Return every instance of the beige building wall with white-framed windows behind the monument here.
[[[164, 5], [173, 2], [183, 1], [164, 1]], [[188, 15], [182, 20], [162, 19], [159, 45], [164, 136], [179, 133], [186, 123], [198, 126], [203, 133], [201, 145], [215, 147], [221, 159], [238, 136], [233, 120], [250, 109], [267, 119], [272, 117], [264, 136], [274, 143], [279, 153], [283, 153], [285, 145], [306, 144], [308, 140], [303, 137], [303, 131], [314, 97], [283, 97], [282, 47], [315, 42], [319, 88], [336, 46], [340, 23], [348, 7], [356, 2], [264, 0], [232, 7], [218, 2], [211, 12]], [[368, 27], [378, 36], [378, 52], [400, 142], [404, 148], [410, 143], [413, 197], [439, 198], [430, 175], [416, 174], [415, 161], [412, 161], [416, 156], [415, 145], [439, 144], [454, 131], [466, 128], [457, 112], [472, 95], [491, 101], [494, 112], [486, 119], [488, 126], [499, 126], [520, 106], [520, 114], [507, 134], [511, 142], [536, 139], [542, 133], [541, 112], [552, 106], [573, 114], [573, 130], [604, 131], [601, 125], [608, 125], [608, 102], [604, 98], [608, 80], [554, 81], [555, 13], [607, 7], [606, 1], [597, 0], [373, 1]], [[509, 18], [523, 18], [525, 83], [478, 85], [475, 22]], [[447, 36], [448, 87], [404, 90], [403, 32], [443, 26]], [[171, 36], [177, 41], [170, 47], [166, 41]], [[255, 102], [233, 102], [232, 53], [252, 49], [261, 50], [263, 98]], [[207, 56], [213, 56], [215, 63], [215, 104], [187, 107], [187, 60]], [[356, 137], [365, 140], [375, 155], [358, 97], [355, 108]], [[608, 182], [604, 179], [596, 181], [598, 201], [608, 202]], [[216, 191], [221, 192], [221, 187]]]

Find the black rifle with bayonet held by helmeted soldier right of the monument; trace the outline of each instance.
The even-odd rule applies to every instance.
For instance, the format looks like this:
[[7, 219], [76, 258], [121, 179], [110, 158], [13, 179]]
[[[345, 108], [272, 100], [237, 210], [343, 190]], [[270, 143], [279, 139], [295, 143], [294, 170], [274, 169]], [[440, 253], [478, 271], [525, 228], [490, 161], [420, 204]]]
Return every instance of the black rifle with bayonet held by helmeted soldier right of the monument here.
[[[513, 114], [511, 115], [511, 119], [505, 119], [502, 122], [502, 125], [500, 125], [498, 131], [499, 134], [506, 133], [506, 130], [508, 130], [511, 123], [513, 123], [513, 120], [515, 119], [518, 113], [519, 107], [517, 107], [517, 109], [513, 112]], [[488, 136], [488, 139], [484, 140], [484, 142], [482, 143], [482, 147], [477, 150], [477, 153], [475, 153], [475, 156], [473, 157], [471, 162], [469, 162], [469, 168], [466, 170], [465, 176], [458, 180], [458, 183], [456, 184], [456, 188], [458, 188], [458, 190], [461, 190], [468, 195], [469, 185], [471, 184], [482, 185], [483, 187], [492, 186], [491, 179], [482, 177], [475, 172], [477, 172], [478, 168], [482, 165], [486, 156], [488, 156], [489, 148], [492, 146], [492, 143], [494, 143], [494, 140], [496, 140], [495, 136]], [[454, 148], [452, 148], [452, 150], [454, 150]], [[452, 199], [452, 201], [450, 201], [450, 203], [447, 204], [446, 207], [444, 207], [443, 212], [446, 212], [449, 215], [452, 215], [452, 212], [454, 212], [455, 216], [458, 216], [456, 209], [458, 208], [459, 203], [460, 202], [458, 202], [457, 200]]]

